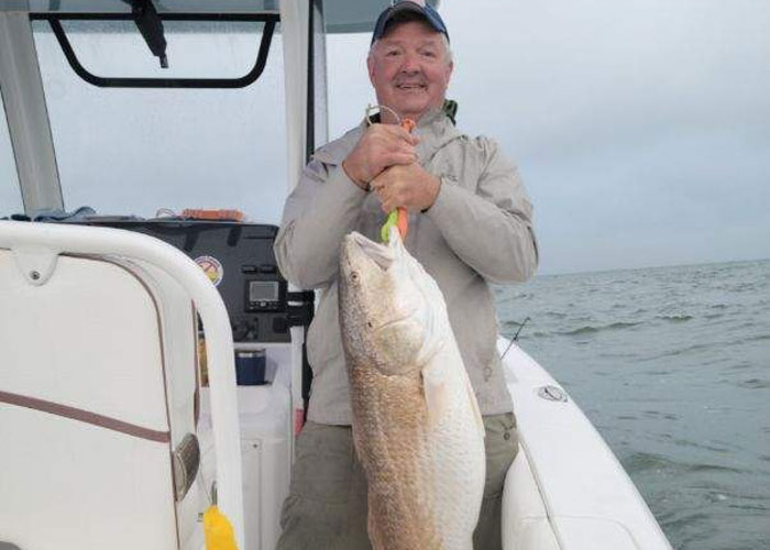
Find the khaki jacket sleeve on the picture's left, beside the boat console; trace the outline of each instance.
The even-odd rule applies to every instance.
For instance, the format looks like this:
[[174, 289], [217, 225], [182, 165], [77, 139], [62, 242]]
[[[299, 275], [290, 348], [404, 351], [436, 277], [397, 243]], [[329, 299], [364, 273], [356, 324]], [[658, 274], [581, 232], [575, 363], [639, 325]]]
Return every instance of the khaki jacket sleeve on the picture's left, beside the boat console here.
[[280, 273], [306, 289], [333, 280], [340, 243], [354, 229], [365, 197], [341, 164], [311, 161], [284, 207], [274, 245]]

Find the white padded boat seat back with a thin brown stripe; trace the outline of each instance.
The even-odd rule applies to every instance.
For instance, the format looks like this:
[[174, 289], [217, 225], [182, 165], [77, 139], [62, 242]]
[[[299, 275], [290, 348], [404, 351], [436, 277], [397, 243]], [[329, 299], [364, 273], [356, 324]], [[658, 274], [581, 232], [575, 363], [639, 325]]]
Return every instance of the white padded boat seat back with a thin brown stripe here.
[[0, 248], [1, 549], [201, 548], [202, 484], [177, 502], [172, 460], [196, 322], [150, 264], [62, 254], [35, 285]]

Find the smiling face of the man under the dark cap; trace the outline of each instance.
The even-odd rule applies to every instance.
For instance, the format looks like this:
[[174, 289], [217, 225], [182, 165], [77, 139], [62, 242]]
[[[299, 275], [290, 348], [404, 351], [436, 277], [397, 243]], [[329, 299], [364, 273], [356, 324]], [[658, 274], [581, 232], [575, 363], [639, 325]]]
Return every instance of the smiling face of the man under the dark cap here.
[[441, 106], [452, 75], [448, 56], [442, 34], [419, 21], [398, 24], [366, 61], [377, 102], [414, 120]]

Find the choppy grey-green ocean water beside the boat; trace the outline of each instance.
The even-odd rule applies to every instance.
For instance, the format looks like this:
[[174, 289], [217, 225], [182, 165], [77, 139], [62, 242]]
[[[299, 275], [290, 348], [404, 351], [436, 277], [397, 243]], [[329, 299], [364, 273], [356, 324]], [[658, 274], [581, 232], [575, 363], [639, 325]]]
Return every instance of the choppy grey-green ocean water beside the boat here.
[[502, 330], [571, 394], [672, 546], [770, 549], [770, 261], [537, 276]]

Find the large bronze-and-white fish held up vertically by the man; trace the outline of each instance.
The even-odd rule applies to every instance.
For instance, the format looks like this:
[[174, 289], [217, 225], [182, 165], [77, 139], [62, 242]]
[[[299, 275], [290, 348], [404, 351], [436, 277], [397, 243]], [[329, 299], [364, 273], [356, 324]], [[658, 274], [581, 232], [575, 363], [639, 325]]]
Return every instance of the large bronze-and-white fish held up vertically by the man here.
[[484, 429], [443, 296], [395, 228], [386, 245], [348, 235], [339, 282], [372, 546], [469, 550]]

